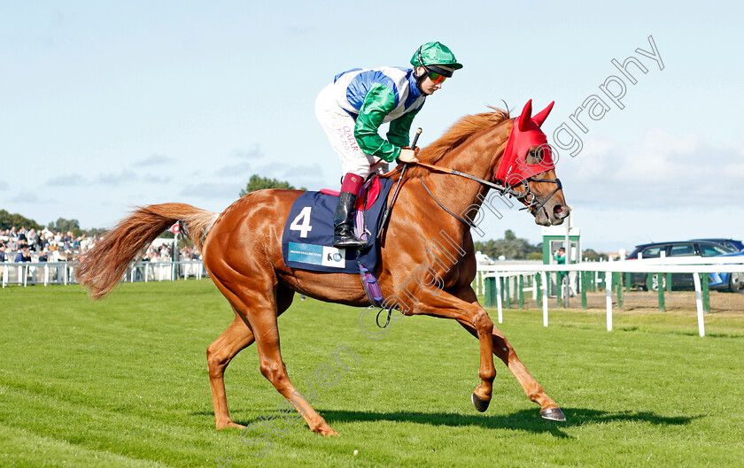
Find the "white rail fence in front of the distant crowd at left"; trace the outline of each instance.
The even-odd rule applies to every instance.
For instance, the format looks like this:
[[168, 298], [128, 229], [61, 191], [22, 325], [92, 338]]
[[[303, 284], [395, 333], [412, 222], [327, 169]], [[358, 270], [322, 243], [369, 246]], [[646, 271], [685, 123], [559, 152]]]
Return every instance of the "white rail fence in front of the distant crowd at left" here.
[[[139, 262], [130, 265], [122, 280], [171, 281], [206, 276], [201, 260], [182, 260], [180, 262]], [[0, 278], [3, 288], [8, 285], [28, 286], [34, 284], [70, 284], [75, 280], [75, 268], [71, 262], [26, 262], [0, 263]]]

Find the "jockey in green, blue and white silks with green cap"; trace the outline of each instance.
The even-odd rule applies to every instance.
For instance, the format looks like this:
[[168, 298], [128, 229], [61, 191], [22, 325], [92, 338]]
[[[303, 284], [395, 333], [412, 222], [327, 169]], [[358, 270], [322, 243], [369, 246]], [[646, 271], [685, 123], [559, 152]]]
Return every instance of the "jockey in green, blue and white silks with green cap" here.
[[[426, 96], [462, 68], [452, 50], [440, 42], [427, 42], [411, 58], [414, 68], [381, 66], [355, 68], [336, 75], [315, 100], [315, 116], [341, 159], [344, 175], [333, 217], [333, 246], [361, 248], [366, 242], [353, 234], [350, 215], [362, 182], [370, 173], [382, 173], [394, 159], [413, 163], [415, 150], [407, 148], [411, 123]], [[377, 133], [390, 122], [387, 140]]]

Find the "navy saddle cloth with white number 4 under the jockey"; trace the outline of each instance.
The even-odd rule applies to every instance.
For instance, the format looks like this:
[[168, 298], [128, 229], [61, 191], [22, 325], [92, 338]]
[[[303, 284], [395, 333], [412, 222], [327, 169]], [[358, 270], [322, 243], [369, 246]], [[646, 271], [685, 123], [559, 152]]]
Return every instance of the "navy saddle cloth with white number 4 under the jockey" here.
[[305, 192], [292, 204], [282, 234], [284, 264], [313, 272], [357, 273], [371, 303], [383, 297], [374, 276], [380, 253], [377, 226], [382, 218], [392, 181], [373, 174], [362, 186], [356, 200], [354, 234], [367, 246], [336, 249], [333, 244], [333, 213], [337, 192]]

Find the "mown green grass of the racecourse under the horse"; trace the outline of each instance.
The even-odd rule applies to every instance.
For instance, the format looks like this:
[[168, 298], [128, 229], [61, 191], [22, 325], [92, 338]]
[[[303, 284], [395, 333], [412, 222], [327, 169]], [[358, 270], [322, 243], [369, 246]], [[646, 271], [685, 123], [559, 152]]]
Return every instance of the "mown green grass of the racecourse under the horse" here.
[[[539, 418], [497, 361], [485, 413], [470, 403], [478, 345], [461, 326], [402, 318], [372, 340], [360, 309], [296, 298], [279, 319], [298, 389], [345, 344], [359, 356], [314, 408], [340, 437], [278, 422], [261, 457], [214, 429], [206, 347], [233, 318], [209, 280], [0, 290], [0, 467], [742, 466], [744, 315], [504, 311], [501, 330], [568, 421]], [[495, 312], [491, 313], [492, 318]], [[226, 372], [236, 422], [283, 403], [255, 347]], [[279, 420], [278, 417], [274, 419]], [[354, 451], [357, 454], [354, 455]], [[218, 462], [231, 459], [227, 464]]]

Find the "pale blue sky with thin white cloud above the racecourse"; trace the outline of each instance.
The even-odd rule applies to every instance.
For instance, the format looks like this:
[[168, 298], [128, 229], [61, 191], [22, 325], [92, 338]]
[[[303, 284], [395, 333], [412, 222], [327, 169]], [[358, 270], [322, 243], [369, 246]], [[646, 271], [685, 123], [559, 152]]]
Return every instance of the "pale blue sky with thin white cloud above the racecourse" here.
[[[254, 173], [337, 188], [319, 91], [440, 41], [464, 67], [416, 117], [419, 146], [489, 105], [555, 101], [543, 130], [583, 247], [741, 239], [742, 16], [717, 1], [0, 0], [0, 209], [111, 227], [137, 205], [223, 211]], [[630, 57], [635, 84], [612, 63]], [[541, 242], [530, 215], [503, 214], [475, 240]]]

